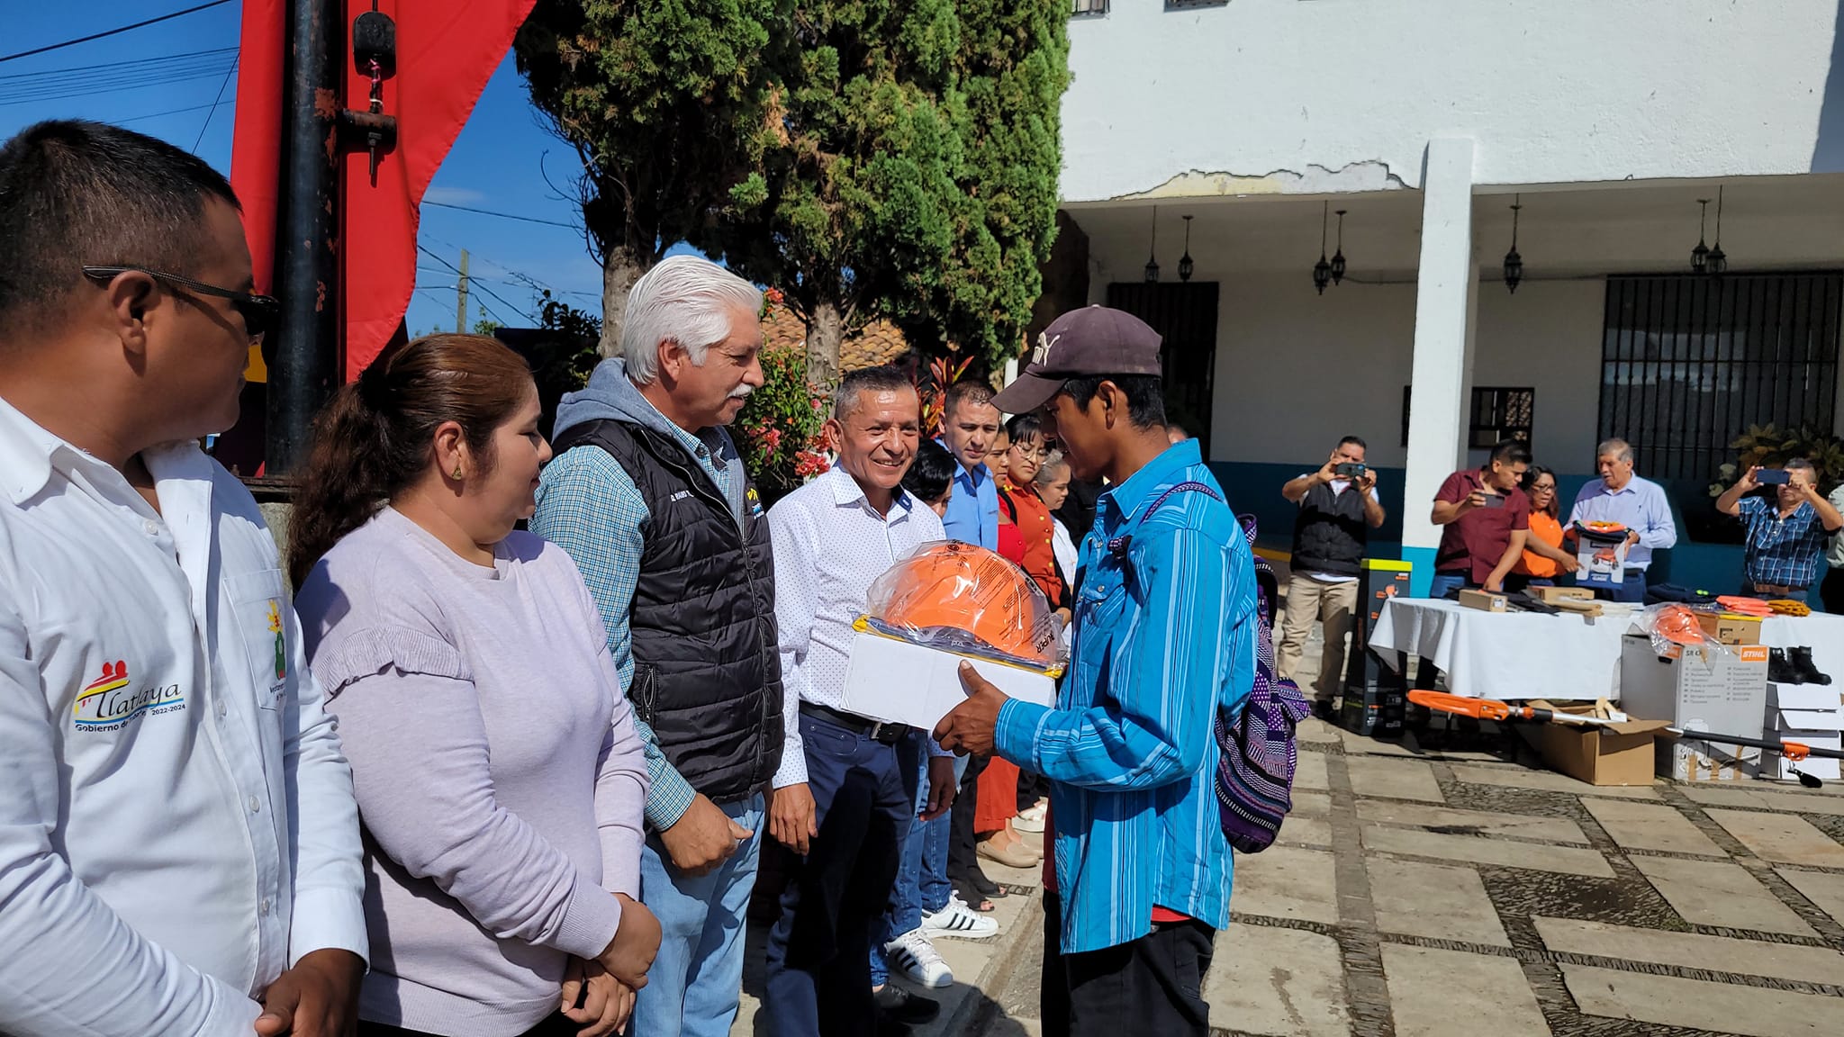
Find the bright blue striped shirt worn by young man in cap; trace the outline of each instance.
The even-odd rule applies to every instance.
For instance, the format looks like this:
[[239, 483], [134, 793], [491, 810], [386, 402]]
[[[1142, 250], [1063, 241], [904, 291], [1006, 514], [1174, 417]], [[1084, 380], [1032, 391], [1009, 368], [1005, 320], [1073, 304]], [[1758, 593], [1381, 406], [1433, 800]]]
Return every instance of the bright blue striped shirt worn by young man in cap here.
[[[1212, 493], [1173, 493], [1152, 511], [1184, 482]], [[1011, 699], [996, 733], [999, 755], [1051, 779], [1062, 950], [1138, 939], [1152, 908], [1223, 928], [1234, 862], [1213, 727], [1254, 685], [1256, 579], [1195, 439], [1101, 495], [1081, 557], [1057, 709]]]

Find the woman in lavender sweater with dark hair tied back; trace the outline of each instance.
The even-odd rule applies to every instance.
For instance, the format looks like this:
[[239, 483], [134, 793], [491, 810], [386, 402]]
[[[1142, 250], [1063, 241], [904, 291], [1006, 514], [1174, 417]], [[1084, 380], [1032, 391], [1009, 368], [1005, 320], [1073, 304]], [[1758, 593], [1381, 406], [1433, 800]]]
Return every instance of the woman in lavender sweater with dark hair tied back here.
[[491, 338], [393, 345], [321, 415], [290, 570], [365, 834], [361, 1035], [610, 1033], [658, 950], [596, 602], [513, 530], [550, 456]]

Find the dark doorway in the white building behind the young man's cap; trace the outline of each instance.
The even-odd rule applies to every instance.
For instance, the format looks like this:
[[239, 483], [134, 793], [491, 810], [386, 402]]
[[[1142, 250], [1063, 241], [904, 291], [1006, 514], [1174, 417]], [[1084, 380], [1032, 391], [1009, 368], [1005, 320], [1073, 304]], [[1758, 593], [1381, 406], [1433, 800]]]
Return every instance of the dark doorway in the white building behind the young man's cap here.
[[1217, 373], [1217, 282], [1108, 286], [1108, 306], [1127, 310], [1164, 338], [1165, 419], [1199, 439], [1210, 458], [1212, 386]]

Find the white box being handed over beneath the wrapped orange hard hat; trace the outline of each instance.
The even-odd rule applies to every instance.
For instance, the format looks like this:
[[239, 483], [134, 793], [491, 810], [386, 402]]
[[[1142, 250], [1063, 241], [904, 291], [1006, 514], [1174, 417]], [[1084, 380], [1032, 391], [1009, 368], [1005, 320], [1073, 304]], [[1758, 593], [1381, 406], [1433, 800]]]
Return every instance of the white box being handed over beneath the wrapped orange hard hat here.
[[966, 701], [961, 662], [1014, 699], [1057, 705], [1057, 681], [1042, 670], [1025, 670], [992, 659], [922, 648], [902, 638], [857, 631], [845, 673], [845, 712], [935, 731], [948, 710]]

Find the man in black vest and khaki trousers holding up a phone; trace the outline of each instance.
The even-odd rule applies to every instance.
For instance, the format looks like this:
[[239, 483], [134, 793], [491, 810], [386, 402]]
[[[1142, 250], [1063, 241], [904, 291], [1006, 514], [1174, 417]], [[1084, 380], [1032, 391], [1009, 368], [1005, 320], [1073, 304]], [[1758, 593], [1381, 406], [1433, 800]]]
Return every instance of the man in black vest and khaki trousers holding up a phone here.
[[1330, 716], [1344, 675], [1344, 637], [1357, 613], [1365, 544], [1370, 530], [1383, 524], [1377, 474], [1365, 463], [1365, 441], [1346, 435], [1317, 472], [1291, 480], [1280, 493], [1298, 504], [1300, 513], [1293, 520], [1293, 581], [1287, 583], [1276, 670], [1282, 679], [1293, 679], [1313, 620], [1324, 622], [1326, 648], [1318, 657], [1313, 709]]

